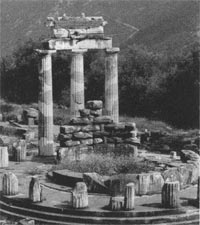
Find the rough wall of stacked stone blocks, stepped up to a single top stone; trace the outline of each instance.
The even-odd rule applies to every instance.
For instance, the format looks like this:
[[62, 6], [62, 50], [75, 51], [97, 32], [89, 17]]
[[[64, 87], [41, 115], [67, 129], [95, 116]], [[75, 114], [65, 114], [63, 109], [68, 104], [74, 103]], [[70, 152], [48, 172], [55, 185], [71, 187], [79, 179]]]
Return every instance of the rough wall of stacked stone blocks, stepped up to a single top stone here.
[[86, 106], [80, 117], [60, 127], [61, 158], [80, 160], [93, 150], [137, 155], [140, 142], [135, 123], [113, 123], [109, 116], [102, 116], [102, 101], [88, 101]]

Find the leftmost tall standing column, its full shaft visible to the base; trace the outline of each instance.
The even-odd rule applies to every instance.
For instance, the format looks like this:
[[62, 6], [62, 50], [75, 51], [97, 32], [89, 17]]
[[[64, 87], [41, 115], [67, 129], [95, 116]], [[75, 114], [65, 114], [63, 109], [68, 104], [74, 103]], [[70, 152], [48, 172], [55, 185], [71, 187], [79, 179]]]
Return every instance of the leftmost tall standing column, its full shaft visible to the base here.
[[52, 59], [55, 50], [37, 50], [41, 55], [39, 66], [39, 123], [38, 141], [39, 155], [51, 156], [53, 149], [53, 91], [52, 91]]

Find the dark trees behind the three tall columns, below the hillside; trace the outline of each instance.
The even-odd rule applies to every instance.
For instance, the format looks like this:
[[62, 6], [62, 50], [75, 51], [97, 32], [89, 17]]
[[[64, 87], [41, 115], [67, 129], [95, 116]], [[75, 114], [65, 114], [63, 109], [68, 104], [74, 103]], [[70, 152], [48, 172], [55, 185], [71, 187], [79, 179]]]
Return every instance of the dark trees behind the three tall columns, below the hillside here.
[[[17, 103], [37, 102], [39, 44], [28, 41], [1, 61], [1, 96]], [[104, 100], [104, 52], [85, 54], [86, 100]], [[119, 56], [120, 112], [162, 119], [182, 127], [198, 127], [199, 50], [177, 55], [128, 46]], [[69, 106], [70, 56], [53, 56], [54, 102]]]

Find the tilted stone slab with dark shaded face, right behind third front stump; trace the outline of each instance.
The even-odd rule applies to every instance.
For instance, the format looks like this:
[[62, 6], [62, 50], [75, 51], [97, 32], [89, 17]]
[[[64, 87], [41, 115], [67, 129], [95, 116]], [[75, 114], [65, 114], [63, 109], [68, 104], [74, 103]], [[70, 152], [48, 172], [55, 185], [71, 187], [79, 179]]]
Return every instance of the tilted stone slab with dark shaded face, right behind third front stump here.
[[86, 183], [88, 191], [95, 193], [108, 193], [108, 188], [104, 184], [104, 179], [98, 173], [84, 173], [83, 181]]

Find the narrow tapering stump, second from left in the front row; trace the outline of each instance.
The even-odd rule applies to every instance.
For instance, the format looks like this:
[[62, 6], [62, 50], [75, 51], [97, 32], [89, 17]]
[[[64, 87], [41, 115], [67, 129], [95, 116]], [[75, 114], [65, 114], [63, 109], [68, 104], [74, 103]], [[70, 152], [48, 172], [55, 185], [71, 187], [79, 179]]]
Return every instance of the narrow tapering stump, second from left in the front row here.
[[32, 202], [42, 202], [42, 187], [37, 177], [32, 177], [29, 184], [29, 199]]

